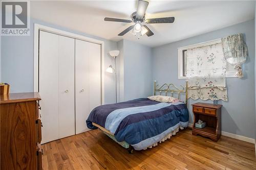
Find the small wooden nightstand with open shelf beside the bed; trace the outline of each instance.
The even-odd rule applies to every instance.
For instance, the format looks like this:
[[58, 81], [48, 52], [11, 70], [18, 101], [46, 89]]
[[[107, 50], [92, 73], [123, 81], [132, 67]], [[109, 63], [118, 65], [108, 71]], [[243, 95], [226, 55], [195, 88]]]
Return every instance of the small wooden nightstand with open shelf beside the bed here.
[[[209, 137], [213, 141], [218, 141], [221, 136], [221, 107], [222, 105], [213, 105], [207, 103], [193, 104], [194, 124], [193, 135], [202, 135]], [[206, 122], [206, 127], [200, 129], [195, 127], [198, 120]]]

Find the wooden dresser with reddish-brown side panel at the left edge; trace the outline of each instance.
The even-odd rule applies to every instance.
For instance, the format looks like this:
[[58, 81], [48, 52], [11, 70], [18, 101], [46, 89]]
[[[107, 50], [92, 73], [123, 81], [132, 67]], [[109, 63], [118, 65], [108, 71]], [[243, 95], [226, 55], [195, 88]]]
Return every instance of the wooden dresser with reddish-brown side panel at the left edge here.
[[42, 169], [37, 92], [0, 95], [1, 169]]

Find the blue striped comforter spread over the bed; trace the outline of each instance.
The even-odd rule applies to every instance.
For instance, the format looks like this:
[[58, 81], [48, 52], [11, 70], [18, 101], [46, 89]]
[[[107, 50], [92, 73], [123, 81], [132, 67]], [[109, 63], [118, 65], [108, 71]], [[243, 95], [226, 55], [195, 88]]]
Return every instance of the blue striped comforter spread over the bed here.
[[126, 141], [135, 150], [142, 150], [160, 141], [179, 126], [187, 127], [188, 110], [183, 102], [160, 103], [149, 99], [101, 105], [92, 110], [87, 127], [97, 129], [96, 123]]

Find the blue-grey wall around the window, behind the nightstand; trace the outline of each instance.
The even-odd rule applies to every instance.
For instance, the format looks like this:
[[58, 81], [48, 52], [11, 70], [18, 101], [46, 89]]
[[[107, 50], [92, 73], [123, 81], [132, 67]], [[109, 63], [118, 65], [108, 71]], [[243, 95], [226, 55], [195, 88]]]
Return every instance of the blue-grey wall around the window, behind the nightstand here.
[[[222, 131], [254, 138], [255, 136], [255, 82], [254, 82], [254, 20], [239, 23], [234, 26], [209, 32], [181, 41], [154, 47], [153, 80], [160, 84], [172, 82], [185, 84], [184, 79], [178, 79], [178, 47], [214, 40], [227, 35], [244, 33], [249, 56], [243, 64], [244, 77], [227, 78], [228, 102], [219, 101], [222, 108]], [[197, 102], [212, 103], [212, 101], [188, 100], [188, 104]], [[189, 123], [193, 123], [193, 113], [189, 106]]]

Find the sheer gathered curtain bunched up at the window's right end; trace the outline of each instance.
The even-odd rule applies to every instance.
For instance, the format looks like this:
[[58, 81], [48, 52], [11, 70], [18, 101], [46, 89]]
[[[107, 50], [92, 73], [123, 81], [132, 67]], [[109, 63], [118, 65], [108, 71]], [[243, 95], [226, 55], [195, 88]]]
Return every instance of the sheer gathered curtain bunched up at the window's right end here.
[[236, 76], [242, 77], [242, 63], [246, 61], [248, 56], [248, 50], [245, 42], [243, 41], [243, 35], [229, 35], [221, 38], [224, 57], [227, 62], [234, 66], [238, 71]]

